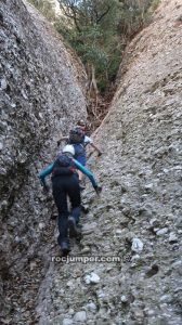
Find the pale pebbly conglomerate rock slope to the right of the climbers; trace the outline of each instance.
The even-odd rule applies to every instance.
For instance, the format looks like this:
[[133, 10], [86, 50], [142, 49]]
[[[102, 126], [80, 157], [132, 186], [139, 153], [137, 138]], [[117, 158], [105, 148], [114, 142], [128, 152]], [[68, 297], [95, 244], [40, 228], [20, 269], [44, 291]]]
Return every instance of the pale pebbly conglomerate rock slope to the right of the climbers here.
[[164, 1], [127, 49], [95, 133], [103, 156], [89, 161], [103, 192], [84, 194], [90, 211], [72, 252], [84, 258], [52, 262], [40, 324], [182, 323], [181, 12], [180, 0]]

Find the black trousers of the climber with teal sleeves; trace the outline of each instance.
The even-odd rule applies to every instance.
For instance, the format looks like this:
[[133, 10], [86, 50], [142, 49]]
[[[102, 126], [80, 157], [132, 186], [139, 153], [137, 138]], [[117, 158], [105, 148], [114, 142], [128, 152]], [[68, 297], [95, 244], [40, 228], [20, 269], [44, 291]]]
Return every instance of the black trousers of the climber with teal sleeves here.
[[55, 205], [58, 210], [58, 245], [67, 242], [67, 219], [69, 216], [67, 206], [67, 196], [72, 204], [72, 216], [78, 223], [80, 217], [80, 187], [78, 177], [76, 174], [56, 176], [52, 178], [52, 188]]

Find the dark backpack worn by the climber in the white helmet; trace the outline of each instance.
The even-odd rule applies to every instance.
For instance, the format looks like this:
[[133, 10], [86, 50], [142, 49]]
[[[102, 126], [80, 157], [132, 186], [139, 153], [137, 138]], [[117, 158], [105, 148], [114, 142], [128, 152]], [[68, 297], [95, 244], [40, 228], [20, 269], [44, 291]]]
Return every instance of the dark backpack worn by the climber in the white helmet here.
[[56, 158], [52, 169], [52, 176], [73, 174], [76, 172], [73, 159], [66, 155], [61, 155]]

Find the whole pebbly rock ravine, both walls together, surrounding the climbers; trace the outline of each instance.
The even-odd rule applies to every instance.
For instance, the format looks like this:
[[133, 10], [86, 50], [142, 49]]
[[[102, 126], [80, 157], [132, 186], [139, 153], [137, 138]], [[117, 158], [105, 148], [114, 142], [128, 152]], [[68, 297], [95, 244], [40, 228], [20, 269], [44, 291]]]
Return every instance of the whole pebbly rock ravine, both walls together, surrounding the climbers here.
[[103, 155], [88, 166], [103, 191], [87, 182], [77, 261], [60, 260], [56, 210], [37, 174], [87, 116], [84, 72], [31, 6], [1, 2], [1, 323], [181, 324], [181, 1], [164, 0], [126, 50], [92, 134]]

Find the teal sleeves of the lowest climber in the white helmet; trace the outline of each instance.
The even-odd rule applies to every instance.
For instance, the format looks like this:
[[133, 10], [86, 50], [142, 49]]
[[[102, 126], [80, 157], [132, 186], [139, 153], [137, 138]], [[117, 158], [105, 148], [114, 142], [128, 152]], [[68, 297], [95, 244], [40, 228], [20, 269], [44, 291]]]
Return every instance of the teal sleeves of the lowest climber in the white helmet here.
[[[80, 162], [78, 162], [76, 159], [72, 158], [74, 164], [75, 164], [75, 168], [76, 169], [79, 169], [82, 173], [84, 173], [89, 180], [91, 181], [92, 183], [92, 186], [95, 188], [98, 187], [98, 182], [93, 176], [93, 173], [87, 169], [86, 167], [83, 167]], [[39, 173], [39, 179], [41, 180], [42, 184], [46, 185], [46, 177], [49, 176], [52, 170], [53, 170], [53, 165], [54, 164], [51, 164], [49, 165], [46, 169], [43, 169], [40, 173]]]

